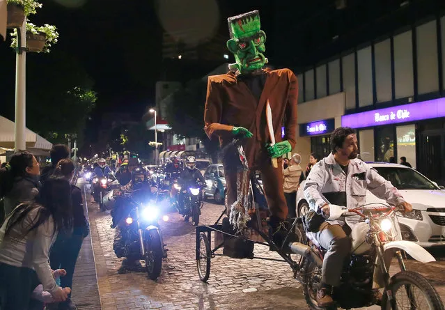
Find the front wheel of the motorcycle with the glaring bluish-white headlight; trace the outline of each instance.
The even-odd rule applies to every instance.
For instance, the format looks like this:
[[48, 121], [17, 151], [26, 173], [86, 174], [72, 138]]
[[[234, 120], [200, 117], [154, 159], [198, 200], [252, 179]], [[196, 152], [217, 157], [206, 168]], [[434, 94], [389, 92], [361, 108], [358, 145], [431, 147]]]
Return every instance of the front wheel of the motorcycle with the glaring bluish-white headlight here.
[[155, 280], [162, 269], [162, 242], [159, 231], [153, 229], [146, 232], [146, 271], [150, 279]]

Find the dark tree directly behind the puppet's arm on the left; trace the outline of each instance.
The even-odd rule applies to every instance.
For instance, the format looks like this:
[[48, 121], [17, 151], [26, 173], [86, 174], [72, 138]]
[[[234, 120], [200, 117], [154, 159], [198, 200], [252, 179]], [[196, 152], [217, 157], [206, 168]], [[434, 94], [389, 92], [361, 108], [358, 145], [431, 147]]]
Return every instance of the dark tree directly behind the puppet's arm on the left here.
[[209, 140], [204, 132], [204, 107], [207, 83], [203, 79], [192, 80], [185, 88], [175, 91], [166, 105], [166, 121], [180, 137], [198, 137], [205, 150], [217, 162], [219, 144]]

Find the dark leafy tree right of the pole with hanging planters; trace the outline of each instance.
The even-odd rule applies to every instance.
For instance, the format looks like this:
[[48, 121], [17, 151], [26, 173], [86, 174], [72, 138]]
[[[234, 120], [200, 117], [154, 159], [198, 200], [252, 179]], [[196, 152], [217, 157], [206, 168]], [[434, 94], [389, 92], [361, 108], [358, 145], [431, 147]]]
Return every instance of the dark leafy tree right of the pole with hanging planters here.
[[52, 53], [38, 58], [28, 62], [26, 125], [54, 143], [76, 133], [80, 148], [86, 118], [97, 100], [93, 81], [70, 56]]

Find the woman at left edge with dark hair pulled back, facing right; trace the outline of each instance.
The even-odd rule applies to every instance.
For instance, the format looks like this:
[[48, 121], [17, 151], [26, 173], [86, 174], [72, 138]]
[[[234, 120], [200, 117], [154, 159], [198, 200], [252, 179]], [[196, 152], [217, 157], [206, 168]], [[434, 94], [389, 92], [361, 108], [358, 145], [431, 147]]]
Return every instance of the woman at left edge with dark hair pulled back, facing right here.
[[5, 217], [19, 203], [34, 199], [40, 187], [40, 166], [34, 155], [26, 150], [17, 152], [11, 157], [9, 164], [10, 169], [1, 176]]

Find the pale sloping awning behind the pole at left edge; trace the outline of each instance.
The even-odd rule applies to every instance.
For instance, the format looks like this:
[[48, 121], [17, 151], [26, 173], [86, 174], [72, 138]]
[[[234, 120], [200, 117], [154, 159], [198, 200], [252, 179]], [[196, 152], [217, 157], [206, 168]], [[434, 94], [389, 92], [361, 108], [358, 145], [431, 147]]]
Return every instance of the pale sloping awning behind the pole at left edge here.
[[[0, 0], [1, 1], [1, 0]], [[25, 130], [26, 149], [39, 148], [41, 150], [51, 150], [52, 143], [40, 137], [36, 132], [26, 128]], [[0, 147], [14, 148], [15, 128], [14, 122], [0, 116]]]

